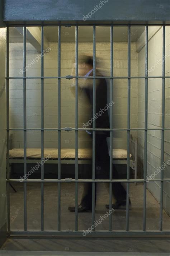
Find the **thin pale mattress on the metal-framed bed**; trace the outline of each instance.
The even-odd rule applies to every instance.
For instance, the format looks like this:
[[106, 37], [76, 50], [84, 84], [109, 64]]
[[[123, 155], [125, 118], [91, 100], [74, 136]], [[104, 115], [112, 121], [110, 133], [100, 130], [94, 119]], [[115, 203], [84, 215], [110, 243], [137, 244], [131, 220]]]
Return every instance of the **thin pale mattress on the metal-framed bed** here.
[[[129, 154], [131, 158], [131, 154]], [[23, 148], [13, 148], [9, 150], [10, 158], [23, 158], [24, 149]], [[44, 158], [50, 157], [50, 159], [58, 159], [58, 149], [57, 148], [44, 148]], [[27, 158], [41, 158], [41, 148], [27, 148]], [[75, 158], [74, 148], [62, 148], [61, 149], [61, 159], [65, 158]], [[92, 149], [81, 148], [78, 149], [79, 159], [92, 159]], [[113, 149], [114, 159], [127, 159], [126, 149]]]

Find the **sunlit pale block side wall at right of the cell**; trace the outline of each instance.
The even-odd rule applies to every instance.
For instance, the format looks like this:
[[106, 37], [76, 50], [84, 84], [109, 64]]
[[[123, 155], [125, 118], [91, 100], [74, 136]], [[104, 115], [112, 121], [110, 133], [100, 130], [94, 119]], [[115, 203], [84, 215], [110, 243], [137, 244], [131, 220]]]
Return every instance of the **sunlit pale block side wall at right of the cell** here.
[[[149, 28], [150, 29], [150, 28]], [[152, 29], [154, 29], [152, 27]], [[150, 33], [150, 31], [149, 31]], [[166, 27], [165, 75], [170, 75], [170, 28]], [[169, 54], [169, 55], [168, 55]], [[145, 68], [145, 46], [138, 53], [138, 76]], [[162, 27], [157, 29], [148, 42], [148, 76], [162, 75]], [[160, 64], [157, 64], [160, 63]], [[155, 65], [157, 64], [157, 65]], [[155, 65], [155, 66], [154, 66]], [[161, 128], [162, 118], [162, 79], [148, 79], [148, 128]], [[145, 127], [145, 79], [138, 81], [138, 128]], [[170, 79], [165, 81], [165, 128], [170, 127]], [[165, 131], [164, 162], [170, 160], [170, 131]], [[161, 167], [161, 131], [148, 131], [147, 177]], [[138, 158], [143, 175], [144, 132], [138, 131]], [[170, 165], [164, 169], [164, 178], [170, 177]], [[158, 173], [155, 178], [160, 178]], [[164, 209], [170, 214], [170, 186], [164, 183]], [[147, 188], [160, 201], [160, 182], [148, 182]]]

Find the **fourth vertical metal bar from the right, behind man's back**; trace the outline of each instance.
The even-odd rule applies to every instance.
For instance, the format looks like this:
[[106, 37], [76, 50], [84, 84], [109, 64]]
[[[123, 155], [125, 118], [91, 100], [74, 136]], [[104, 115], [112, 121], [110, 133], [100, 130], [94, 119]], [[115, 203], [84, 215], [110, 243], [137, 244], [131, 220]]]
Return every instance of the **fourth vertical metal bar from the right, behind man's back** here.
[[[113, 26], [110, 27], [110, 75], [113, 76]], [[113, 101], [113, 78], [110, 79], [110, 102]], [[113, 109], [110, 108], [110, 129]], [[113, 179], [113, 131], [110, 131], [110, 181]], [[112, 182], [109, 183], [109, 210], [112, 210]], [[109, 231], [112, 231], [112, 214], [109, 215]]]

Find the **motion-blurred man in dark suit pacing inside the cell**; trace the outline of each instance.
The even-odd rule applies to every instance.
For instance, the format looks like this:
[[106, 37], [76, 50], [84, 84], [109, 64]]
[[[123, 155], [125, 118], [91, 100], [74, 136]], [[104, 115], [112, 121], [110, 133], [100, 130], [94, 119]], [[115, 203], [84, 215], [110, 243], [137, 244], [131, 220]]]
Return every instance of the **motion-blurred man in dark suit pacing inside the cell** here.
[[[75, 64], [73, 65], [72, 75], [74, 75]], [[97, 78], [95, 82], [96, 91], [96, 104], [95, 115], [93, 116], [93, 79], [88, 79], [88, 76], [93, 76], [93, 57], [82, 55], [79, 57], [79, 76], [84, 78], [79, 79], [79, 92], [84, 92], [89, 100], [90, 114], [89, 121], [83, 125], [83, 128], [87, 128], [86, 132], [93, 138], [93, 132], [88, 130], [93, 128], [93, 122], [95, 120], [96, 128], [110, 129], [109, 116], [108, 116], [108, 104], [107, 104], [107, 83], [104, 78]], [[102, 75], [96, 70], [96, 75]], [[72, 93], [75, 96], [75, 83], [70, 87]], [[110, 104], [113, 103], [109, 103]], [[110, 131], [96, 131], [95, 132], [95, 179], [109, 179], [109, 151], [107, 138], [110, 137]], [[86, 179], [92, 179], [92, 172], [89, 170], [85, 174]], [[116, 170], [113, 174], [114, 178], [118, 178]], [[126, 205], [126, 191], [122, 187], [121, 183], [113, 183], [112, 186], [113, 196], [116, 202], [112, 205], [112, 208], [117, 209], [122, 205]], [[96, 204], [96, 185], [95, 185], [95, 204]], [[109, 205], [106, 205], [109, 208]], [[82, 195], [81, 203], [78, 205], [78, 212], [83, 212], [92, 209], [92, 182], [84, 183], [84, 192]], [[75, 206], [69, 206], [70, 211], [75, 211]]]

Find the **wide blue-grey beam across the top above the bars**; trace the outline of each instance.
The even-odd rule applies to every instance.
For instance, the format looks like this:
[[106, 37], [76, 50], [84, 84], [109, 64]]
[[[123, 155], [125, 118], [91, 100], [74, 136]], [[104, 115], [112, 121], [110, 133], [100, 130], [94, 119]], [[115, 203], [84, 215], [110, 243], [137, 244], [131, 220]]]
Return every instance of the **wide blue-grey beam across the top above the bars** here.
[[166, 21], [170, 0], [4, 0], [4, 20]]

